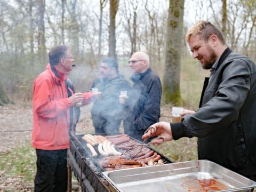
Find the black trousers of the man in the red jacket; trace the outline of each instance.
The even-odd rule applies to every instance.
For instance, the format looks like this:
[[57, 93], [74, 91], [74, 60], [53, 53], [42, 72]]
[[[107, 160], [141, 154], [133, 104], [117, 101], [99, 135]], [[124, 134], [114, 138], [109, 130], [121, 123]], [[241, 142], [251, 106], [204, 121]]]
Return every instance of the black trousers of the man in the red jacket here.
[[67, 149], [36, 149], [35, 191], [67, 191]]

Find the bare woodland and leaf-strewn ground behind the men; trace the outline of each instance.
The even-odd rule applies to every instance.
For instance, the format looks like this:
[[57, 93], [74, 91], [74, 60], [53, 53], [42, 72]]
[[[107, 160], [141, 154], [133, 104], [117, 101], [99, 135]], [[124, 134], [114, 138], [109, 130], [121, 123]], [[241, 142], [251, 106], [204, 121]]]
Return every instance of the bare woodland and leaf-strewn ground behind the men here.
[[[6, 186], [12, 189], [13, 175], [21, 178], [19, 183], [27, 183], [18, 184], [21, 191], [33, 188], [35, 153], [29, 144], [33, 82], [45, 70], [52, 46], [70, 47], [76, 64], [70, 79], [81, 92], [99, 75], [102, 58], [116, 57], [119, 71], [129, 79], [131, 54], [147, 52], [150, 67], [163, 83], [161, 120], [170, 121], [173, 105], [197, 109], [203, 79], [209, 76], [191, 57], [184, 38], [187, 29], [198, 20], [208, 20], [222, 30], [233, 51], [256, 61], [255, 5], [255, 0], [0, 0], [0, 122], [4, 120], [0, 191]], [[78, 125], [81, 133], [93, 132], [86, 113]], [[27, 142], [15, 147], [20, 143], [10, 145], [10, 138]], [[196, 139], [165, 143], [158, 150], [174, 161], [197, 158]]]

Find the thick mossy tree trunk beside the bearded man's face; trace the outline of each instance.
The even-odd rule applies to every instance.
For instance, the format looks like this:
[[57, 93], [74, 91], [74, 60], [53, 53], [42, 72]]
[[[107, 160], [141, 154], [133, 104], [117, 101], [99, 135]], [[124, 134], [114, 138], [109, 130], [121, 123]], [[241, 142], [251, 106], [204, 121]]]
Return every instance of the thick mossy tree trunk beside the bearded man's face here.
[[167, 21], [163, 101], [182, 104], [180, 94], [180, 66], [183, 38], [184, 0], [170, 0]]

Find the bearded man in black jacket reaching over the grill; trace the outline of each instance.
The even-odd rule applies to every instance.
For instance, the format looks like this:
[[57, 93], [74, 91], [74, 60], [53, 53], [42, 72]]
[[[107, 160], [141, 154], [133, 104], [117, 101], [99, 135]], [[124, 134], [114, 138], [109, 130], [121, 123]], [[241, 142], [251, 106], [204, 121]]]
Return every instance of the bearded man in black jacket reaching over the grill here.
[[184, 110], [181, 123], [154, 124], [142, 136], [161, 135], [163, 141], [198, 137], [198, 159], [208, 159], [256, 181], [256, 66], [231, 51], [221, 31], [207, 21], [188, 30], [187, 42], [193, 57], [204, 69], [205, 78], [199, 109]]

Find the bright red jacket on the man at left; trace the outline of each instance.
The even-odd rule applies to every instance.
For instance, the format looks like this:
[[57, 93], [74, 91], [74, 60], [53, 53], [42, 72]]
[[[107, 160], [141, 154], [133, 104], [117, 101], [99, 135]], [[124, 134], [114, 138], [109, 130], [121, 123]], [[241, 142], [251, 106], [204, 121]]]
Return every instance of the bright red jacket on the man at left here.
[[[69, 148], [69, 107], [65, 80], [53, 73], [50, 64], [34, 81], [32, 146], [37, 149]], [[83, 105], [90, 103], [93, 93], [84, 93]]]

